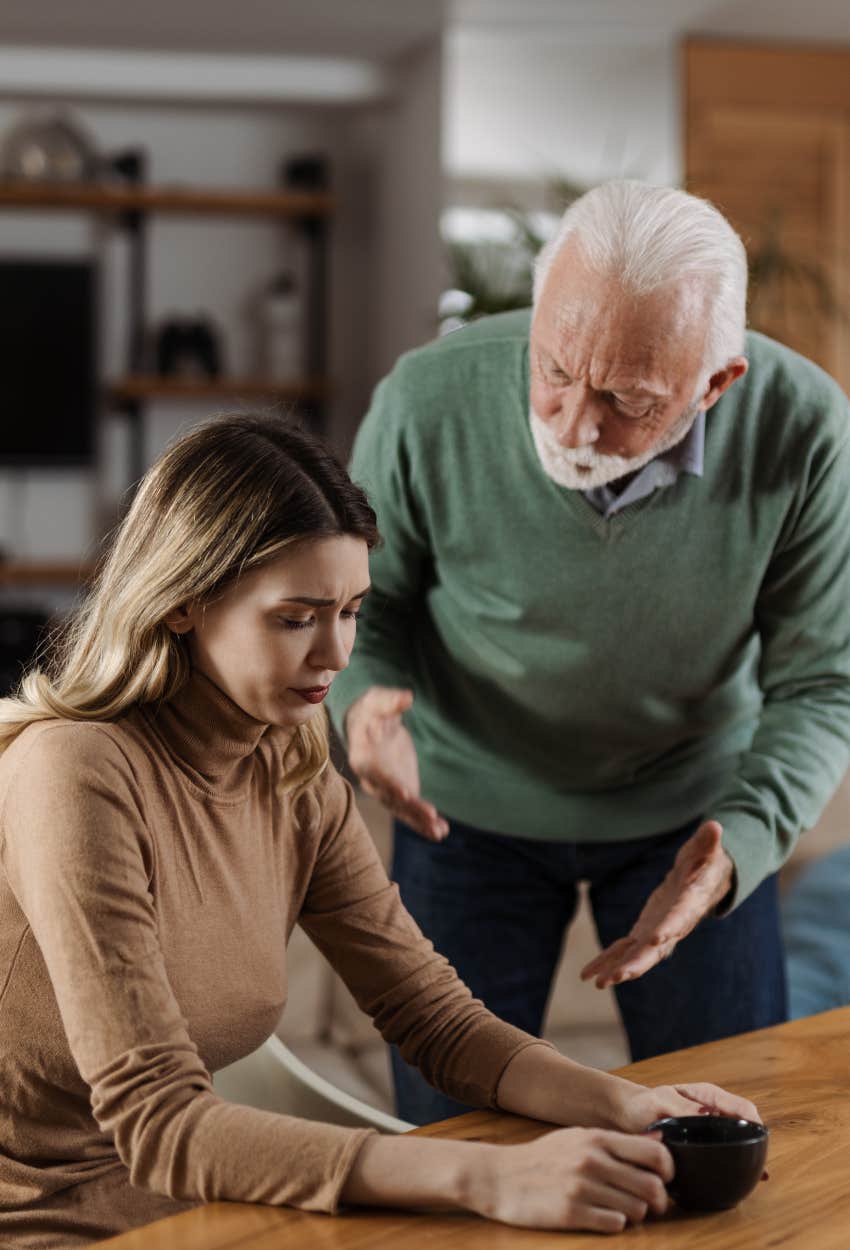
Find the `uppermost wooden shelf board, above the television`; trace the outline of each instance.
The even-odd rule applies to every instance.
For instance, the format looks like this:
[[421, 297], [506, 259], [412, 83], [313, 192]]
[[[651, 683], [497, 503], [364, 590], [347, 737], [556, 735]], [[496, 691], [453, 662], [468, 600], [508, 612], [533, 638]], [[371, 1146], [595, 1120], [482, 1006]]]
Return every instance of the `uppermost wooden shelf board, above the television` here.
[[0, 181], [0, 206], [89, 212], [186, 212], [225, 216], [328, 218], [334, 199], [315, 191], [241, 191], [120, 184]]

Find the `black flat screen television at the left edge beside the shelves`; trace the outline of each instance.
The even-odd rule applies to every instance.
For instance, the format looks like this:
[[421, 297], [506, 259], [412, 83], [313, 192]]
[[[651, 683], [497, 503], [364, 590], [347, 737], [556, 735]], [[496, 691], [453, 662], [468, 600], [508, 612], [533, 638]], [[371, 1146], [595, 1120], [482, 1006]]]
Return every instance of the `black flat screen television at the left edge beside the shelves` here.
[[0, 259], [0, 466], [94, 460], [95, 274], [86, 260]]

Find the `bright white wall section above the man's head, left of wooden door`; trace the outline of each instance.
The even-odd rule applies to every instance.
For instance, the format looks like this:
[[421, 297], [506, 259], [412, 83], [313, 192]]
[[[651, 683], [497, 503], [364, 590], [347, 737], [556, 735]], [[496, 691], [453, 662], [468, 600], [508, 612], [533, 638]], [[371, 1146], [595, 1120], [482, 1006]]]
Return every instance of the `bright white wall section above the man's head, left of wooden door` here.
[[450, 176], [594, 182], [680, 178], [671, 36], [569, 25], [456, 29], [446, 39], [444, 166]]

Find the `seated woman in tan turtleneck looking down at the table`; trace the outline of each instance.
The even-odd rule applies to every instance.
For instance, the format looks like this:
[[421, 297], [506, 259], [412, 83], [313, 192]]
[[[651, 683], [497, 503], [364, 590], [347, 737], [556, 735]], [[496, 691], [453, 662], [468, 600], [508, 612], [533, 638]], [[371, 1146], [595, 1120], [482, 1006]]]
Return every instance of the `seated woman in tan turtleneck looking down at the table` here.
[[[452, 1205], [618, 1231], [671, 1172], [640, 1130], [714, 1086], [580, 1068], [471, 999], [404, 911], [321, 708], [375, 516], [311, 438], [209, 422], [150, 470], [50, 674], [0, 702], [0, 1241], [80, 1246], [212, 1199]], [[440, 1089], [574, 1126], [385, 1139], [219, 1100], [301, 924]]]

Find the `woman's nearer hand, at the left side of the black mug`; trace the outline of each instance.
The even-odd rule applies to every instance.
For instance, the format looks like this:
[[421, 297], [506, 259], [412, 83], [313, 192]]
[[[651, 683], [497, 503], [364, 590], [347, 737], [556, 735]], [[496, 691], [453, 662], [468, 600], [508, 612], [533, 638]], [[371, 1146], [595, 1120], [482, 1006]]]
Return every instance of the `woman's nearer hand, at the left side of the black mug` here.
[[671, 1178], [670, 1154], [651, 1136], [559, 1129], [490, 1148], [489, 1161], [468, 1172], [464, 1206], [520, 1228], [621, 1232], [668, 1209]]

